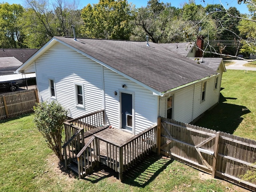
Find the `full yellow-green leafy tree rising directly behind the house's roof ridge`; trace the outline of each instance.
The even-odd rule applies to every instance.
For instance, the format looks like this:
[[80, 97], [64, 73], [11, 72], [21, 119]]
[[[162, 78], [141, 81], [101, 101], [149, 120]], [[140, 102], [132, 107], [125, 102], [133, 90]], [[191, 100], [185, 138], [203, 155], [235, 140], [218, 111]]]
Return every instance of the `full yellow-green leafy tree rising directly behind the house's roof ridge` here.
[[130, 5], [126, 0], [100, 0], [82, 9], [81, 35], [87, 38], [128, 40], [131, 33]]

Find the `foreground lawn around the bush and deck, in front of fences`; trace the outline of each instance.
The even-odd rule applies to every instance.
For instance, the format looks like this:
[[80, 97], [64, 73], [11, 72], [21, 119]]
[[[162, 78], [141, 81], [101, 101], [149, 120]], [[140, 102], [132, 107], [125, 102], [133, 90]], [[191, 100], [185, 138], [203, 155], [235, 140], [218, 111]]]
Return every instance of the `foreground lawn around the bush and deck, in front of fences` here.
[[34, 115], [4, 120], [0, 123], [0, 191], [1, 192], [234, 192], [238, 186], [202, 175], [170, 158], [150, 154], [124, 174], [101, 166], [80, 180], [63, 170], [58, 158], [47, 147], [32, 123]]

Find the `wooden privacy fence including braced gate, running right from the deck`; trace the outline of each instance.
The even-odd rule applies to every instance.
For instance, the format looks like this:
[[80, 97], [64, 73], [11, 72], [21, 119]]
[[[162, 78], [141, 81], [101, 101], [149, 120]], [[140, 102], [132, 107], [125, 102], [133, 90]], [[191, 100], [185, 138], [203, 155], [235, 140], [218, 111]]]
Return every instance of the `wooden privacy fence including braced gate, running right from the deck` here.
[[256, 141], [166, 118], [158, 119], [158, 130], [159, 154], [256, 190], [256, 182], [244, 178], [256, 175]]

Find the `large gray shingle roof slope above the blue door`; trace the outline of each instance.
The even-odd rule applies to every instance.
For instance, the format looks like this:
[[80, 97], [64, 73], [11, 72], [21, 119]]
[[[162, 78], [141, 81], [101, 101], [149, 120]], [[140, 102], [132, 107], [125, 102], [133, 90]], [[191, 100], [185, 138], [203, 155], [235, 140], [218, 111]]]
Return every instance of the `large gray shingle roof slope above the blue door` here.
[[55, 38], [159, 92], [216, 74], [216, 70], [177, 55], [162, 44], [150, 42], [148, 47], [146, 42]]

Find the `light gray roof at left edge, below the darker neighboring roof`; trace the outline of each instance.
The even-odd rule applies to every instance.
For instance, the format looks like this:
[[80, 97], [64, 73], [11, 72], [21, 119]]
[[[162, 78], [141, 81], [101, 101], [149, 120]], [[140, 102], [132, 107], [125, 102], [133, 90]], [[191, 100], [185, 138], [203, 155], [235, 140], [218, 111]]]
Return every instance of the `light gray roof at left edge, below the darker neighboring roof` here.
[[0, 58], [0, 75], [14, 74], [14, 71], [22, 65], [15, 57]]

